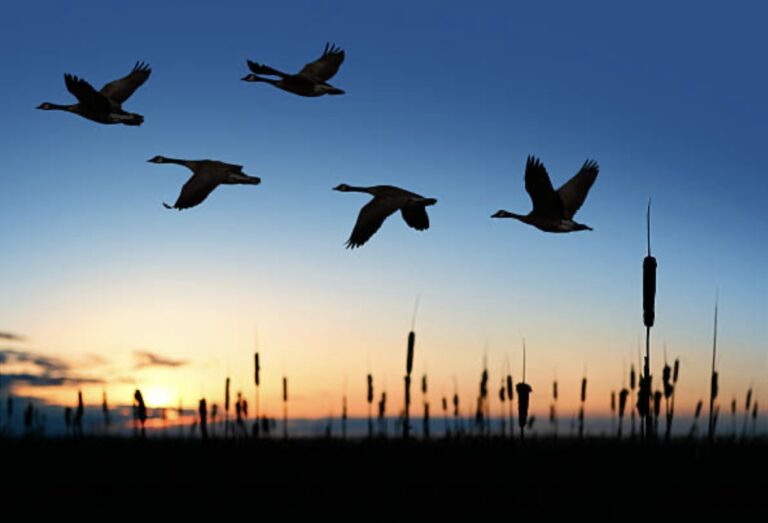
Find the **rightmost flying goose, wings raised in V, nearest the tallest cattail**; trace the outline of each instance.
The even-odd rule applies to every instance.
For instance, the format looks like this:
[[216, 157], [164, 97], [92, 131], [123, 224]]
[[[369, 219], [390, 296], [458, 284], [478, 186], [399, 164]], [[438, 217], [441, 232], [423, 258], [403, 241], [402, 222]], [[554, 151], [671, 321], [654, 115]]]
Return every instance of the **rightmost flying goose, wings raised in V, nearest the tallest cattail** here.
[[515, 218], [545, 232], [591, 231], [592, 227], [573, 221], [573, 216], [595, 183], [597, 172], [597, 162], [587, 160], [573, 178], [555, 191], [544, 164], [529, 156], [525, 165], [525, 190], [531, 197], [533, 210], [526, 215], [501, 210], [491, 218]]

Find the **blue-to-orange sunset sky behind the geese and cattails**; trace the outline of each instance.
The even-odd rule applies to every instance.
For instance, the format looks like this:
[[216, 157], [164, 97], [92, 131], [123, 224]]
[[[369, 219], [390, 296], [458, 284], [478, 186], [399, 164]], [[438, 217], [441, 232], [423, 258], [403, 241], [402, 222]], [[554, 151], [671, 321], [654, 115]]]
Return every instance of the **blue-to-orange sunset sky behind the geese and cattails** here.
[[[414, 373], [464, 408], [487, 361], [531, 407], [605, 413], [644, 335], [644, 215], [658, 259], [653, 372], [680, 358], [678, 405], [708, 393], [719, 294], [721, 399], [768, 404], [764, 167], [768, 7], [760, 2], [23, 2], [0, 17], [0, 373], [17, 395], [71, 404], [223, 402], [224, 379], [278, 413], [367, 412], [365, 375], [402, 403], [414, 303]], [[326, 42], [344, 96], [301, 98], [240, 81], [251, 59], [298, 71]], [[136, 61], [126, 102], [141, 127], [36, 111], [72, 103], [64, 73], [97, 88]], [[242, 164], [259, 186], [217, 189], [183, 212], [186, 169], [161, 154]], [[526, 213], [528, 155], [557, 187], [595, 159], [577, 220], [545, 234]], [[431, 227], [397, 216], [344, 242], [391, 184], [437, 198]], [[12, 335], [12, 336], [10, 336]], [[15, 352], [12, 352], [15, 351]], [[177, 365], [146, 362], [142, 353]], [[23, 354], [19, 356], [19, 354]], [[58, 366], [39, 365], [52, 358]], [[26, 359], [25, 359], [26, 358]], [[153, 360], [154, 361], [154, 360]], [[47, 373], [47, 374], [46, 374]], [[56, 381], [56, 380], [53, 380]], [[658, 378], [657, 378], [658, 383]], [[493, 385], [492, 390], [497, 385]]]

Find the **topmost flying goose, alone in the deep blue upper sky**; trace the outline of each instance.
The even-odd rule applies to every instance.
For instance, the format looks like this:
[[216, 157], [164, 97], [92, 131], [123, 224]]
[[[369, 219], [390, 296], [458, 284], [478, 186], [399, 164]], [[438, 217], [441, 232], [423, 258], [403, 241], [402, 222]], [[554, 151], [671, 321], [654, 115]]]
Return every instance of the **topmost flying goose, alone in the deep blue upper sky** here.
[[[298, 94], [299, 96], [344, 94], [344, 91], [341, 89], [337, 89], [327, 83], [339, 70], [339, 66], [341, 66], [343, 61], [344, 51], [332, 44], [325, 44], [323, 56], [305, 65], [297, 74], [286, 74], [267, 65], [257, 64], [248, 60], [248, 68], [253, 74], [249, 74], [242, 78], [242, 80], [246, 82], [266, 82], [283, 91]], [[258, 76], [260, 74], [277, 76], [279, 80]]]

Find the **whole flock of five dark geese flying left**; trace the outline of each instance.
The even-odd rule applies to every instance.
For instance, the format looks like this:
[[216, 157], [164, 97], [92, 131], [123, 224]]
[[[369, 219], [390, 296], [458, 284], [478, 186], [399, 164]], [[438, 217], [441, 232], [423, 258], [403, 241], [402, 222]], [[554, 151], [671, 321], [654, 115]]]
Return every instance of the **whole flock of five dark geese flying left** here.
[[[250, 74], [242, 78], [245, 82], [263, 82], [283, 91], [305, 97], [342, 95], [345, 92], [328, 83], [344, 62], [344, 51], [326, 44], [322, 56], [306, 64], [296, 74], [289, 74], [268, 65], [247, 60]], [[143, 62], [137, 62], [126, 76], [107, 83], [100, 90], [86, 80], [72, 74], [64, 75], [64, 84], [77, 103], [69, 105], [44, 102], [37, 108], [44, 111], [66, 111], [77, 114], [100, 124], [123, 124], [138, 126], [144, 117], [123, 109], [123, 104], [149, 79], [152, 69]], [[167, 209], [189, 209], [201, 204], [221, 184], [258, 185], [261, 179], [243, 172], [243, 166], [216, 160], [183, 160], [155, 156], [151, 163], [172, 163], [192, 171], [192, 177], [184, 184], [176, 203], [163, 203]], [[500, 210], [492, 218], [514, 218], [537, 229], [552, 233], [592, 230], [588, 225], [577, 223], [573, 217], [584, 203], [599, 168], [594, 160], [587, 160], [570, 180], [557, 191], [552, 186], [544, 164], [536, 157], [529, 156], [525, 166], [525, 190], [531, 198], [533, 209], [526, 215]], [[429, 215], [426, 208], [435, 205], [435, 198], [391, 185], [356, 187], [341, 184], [334, 188], [340, 192], [368, 193], [373, 198], [358, 214], [352, 234], [346, 242], [348, 249], [364, 245], [381, 228], [384, 221], [397, 211], [405, 223], [417, 230], [429, 229]]]

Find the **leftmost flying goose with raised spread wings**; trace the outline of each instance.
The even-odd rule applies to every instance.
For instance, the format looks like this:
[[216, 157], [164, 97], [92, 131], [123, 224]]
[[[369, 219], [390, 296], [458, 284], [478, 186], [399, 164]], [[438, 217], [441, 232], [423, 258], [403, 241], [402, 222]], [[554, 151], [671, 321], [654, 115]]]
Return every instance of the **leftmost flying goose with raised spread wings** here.
[[121, 123], [141, 125], [144, 117], [123, 110], [123, 103], [149, 78], [152, 69], [143, 62], [136, 62], [133, 70], [123, 78], [109, 82], [97, 91], [87, 81], [71, 74], [64, 75], [67, 90], [77, 98], [78, 103], [59, 105], [44, 102], [37, 106], [44, 111], [67, 111], [83, 118], [104, 124]]

